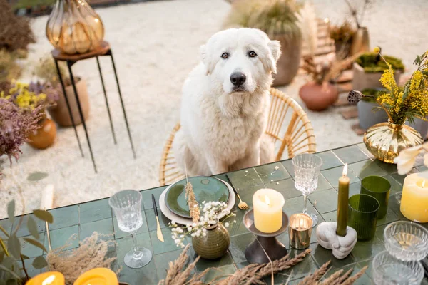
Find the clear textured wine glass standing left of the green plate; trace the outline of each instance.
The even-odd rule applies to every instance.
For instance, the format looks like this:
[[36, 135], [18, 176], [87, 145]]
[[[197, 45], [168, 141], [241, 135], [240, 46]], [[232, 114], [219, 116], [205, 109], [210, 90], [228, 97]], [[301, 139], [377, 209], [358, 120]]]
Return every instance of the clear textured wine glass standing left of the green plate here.
[[126, 266], [131, 268], [146, 266], [152, 258], [150, 250], [138, 248], [137, 245], [137, 230], [143, 225], [141, 199], [141, 193], [136, 190], [122, 190], [108, 199], [108, 204], [116, 214], [119, 229], [129, 232], [133, 239], [134, 248], [124, 258]]

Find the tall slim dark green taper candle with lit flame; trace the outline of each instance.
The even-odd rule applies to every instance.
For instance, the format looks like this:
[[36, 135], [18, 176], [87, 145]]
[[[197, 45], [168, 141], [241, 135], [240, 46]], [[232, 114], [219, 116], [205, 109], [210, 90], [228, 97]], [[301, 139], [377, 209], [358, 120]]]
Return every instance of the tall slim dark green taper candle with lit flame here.
[[339, 178], [339, 197], [337, 199], [337, 229], [336, 234], [346, 235], [348, 198], [350, 195], [350, 177], [347, 177], [347, 164], [343, 167], [342, 177]]

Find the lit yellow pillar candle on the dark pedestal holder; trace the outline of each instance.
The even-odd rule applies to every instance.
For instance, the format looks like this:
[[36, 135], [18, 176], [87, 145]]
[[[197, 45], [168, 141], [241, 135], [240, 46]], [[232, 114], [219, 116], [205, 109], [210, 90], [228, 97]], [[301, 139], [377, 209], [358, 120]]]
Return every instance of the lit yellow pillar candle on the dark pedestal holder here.
[[260, 189], [253, 195], [254, 225], [260, 232], [276, 232], [282, 227], [284, 197], [273, 189]]

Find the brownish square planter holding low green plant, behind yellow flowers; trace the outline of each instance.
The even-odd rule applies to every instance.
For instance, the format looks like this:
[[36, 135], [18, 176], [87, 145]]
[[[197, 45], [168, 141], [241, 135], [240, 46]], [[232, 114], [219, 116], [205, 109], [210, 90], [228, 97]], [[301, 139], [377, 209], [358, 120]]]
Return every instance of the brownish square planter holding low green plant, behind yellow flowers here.
[[[352, 78], [352, 89], [362, 91], [367, 88], [383, 88], [382, 83], [379, 81], [383, 72], [365, 72], [364, 68], [358, 63], [352, 65], [352, 72], [354, 73], [354, 78]], [[394, 78], [397, 83], [399, 82], [401, 73], [402, 72], [397, 69], [394, 70]]]

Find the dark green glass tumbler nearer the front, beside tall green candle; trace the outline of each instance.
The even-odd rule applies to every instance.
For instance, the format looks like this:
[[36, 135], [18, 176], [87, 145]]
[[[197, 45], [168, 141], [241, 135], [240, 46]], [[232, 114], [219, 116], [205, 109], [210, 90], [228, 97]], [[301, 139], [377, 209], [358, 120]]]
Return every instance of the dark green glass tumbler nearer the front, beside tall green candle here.
[[367, 194], [352, 195], [349, 199], [347, 225], [357, 231], [358, 240], [370, 240], [376, 232], [379, 202]]

